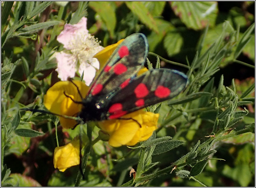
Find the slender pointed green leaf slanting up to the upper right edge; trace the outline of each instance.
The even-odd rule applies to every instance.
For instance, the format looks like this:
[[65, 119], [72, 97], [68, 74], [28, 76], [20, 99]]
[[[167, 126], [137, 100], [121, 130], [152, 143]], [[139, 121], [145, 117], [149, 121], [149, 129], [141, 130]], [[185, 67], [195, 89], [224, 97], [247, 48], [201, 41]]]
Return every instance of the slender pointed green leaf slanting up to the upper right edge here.
[[240, 40], [238, 41], [238, 44], [236, 46], [236, 50], [234, 52], [234, 59], [236, 59], [240, 53], [242, 52], [242, 50], [245, 48], [246, 44], [249, 42], [249, 40], [251, 39], [251, 33], [254, 30], [255, 27], [255, 23], [253, 23], [246, 31], [245, 33], [242, 35], [242, 37], [240, 38]]

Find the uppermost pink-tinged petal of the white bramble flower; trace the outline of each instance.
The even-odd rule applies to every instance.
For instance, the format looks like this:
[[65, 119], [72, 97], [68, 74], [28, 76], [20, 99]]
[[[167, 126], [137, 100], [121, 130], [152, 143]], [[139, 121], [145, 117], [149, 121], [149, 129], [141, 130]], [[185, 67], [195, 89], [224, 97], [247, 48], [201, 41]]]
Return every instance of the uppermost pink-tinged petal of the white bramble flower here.
[[71, 41], [74, 40], [77, 35], [88, 34], [86, 23], [87, 18], [83, 17], [77, 24], [65, 24], [63, 31], [61, 31], [61, 33], [57, 37], [57, 41], [64, 44], [64, 48], [71, 50]]

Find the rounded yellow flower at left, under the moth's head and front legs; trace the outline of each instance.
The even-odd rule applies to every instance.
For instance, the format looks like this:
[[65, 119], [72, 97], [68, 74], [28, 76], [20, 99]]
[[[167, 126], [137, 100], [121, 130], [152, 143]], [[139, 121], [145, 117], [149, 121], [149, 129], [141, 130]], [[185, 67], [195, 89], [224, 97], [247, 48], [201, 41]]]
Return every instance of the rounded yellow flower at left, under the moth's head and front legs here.
[[[83, 82], [74, 80], [73, 81], [82, 97], [86, 96], [86, 93], [89, 89]], [[82, 109], [82, 104], [73, 102], [69, 97], [75, 101], [82, 101], [76, 86], [69, 81], [59, 81], [55, 83], [44, 96], [44, 105], [52, 113], [66, 116], [77, 117], [77, 114]], [[59, 117], [60, 124], [63, 128], [73, 128], [77, 122], [72, 119], [67, 119]]]

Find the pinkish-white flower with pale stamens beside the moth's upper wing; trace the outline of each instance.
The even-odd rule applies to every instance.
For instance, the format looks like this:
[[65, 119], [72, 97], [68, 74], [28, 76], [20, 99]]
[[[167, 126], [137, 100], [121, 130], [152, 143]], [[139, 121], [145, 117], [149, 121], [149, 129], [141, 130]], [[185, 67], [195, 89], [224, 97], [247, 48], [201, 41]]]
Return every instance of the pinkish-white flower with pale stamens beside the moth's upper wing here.
[[65, 24], [64, 30], [59, 34], [57, 40], [64, 44], [66, 50], [56, 52], [58, 77], [66, 81], [68, 77], [74, 77], [78, 72], [84, 71], [83, 80], [89, 86], [93, 81], [96, 69], [100, 63], [93, 56], [101, 51], [98, 39], [89, 34], [86, 28], [87, 18], [83, 17], [77, 24]]

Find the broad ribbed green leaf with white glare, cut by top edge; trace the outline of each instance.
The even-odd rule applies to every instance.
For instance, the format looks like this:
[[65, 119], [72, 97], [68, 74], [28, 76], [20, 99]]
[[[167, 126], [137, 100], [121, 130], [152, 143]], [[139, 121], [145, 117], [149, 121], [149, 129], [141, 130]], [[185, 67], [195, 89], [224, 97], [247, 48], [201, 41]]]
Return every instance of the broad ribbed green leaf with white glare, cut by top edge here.
[[214, 1], [172, 1], [174, 13], [188, 27], [195, 30], [214, 26], [218, 7]]

